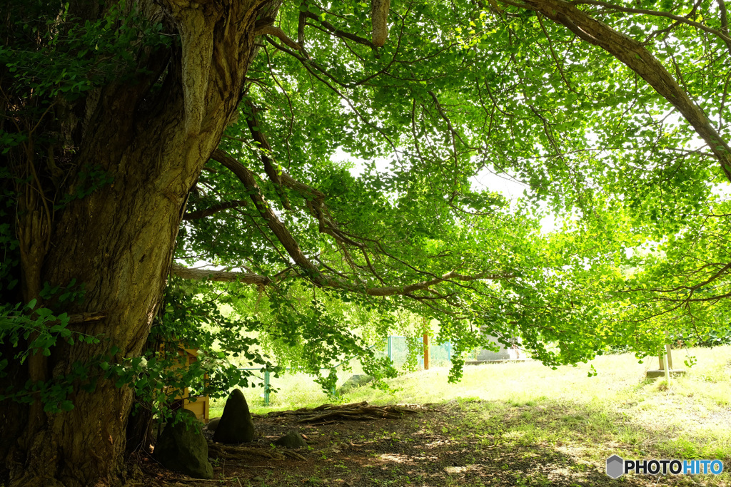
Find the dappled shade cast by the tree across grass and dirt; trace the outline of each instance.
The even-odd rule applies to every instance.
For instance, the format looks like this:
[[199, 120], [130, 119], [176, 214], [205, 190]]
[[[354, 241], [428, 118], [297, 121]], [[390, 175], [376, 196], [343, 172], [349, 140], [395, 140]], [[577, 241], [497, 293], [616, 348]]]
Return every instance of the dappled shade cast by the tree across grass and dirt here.
[[[294, 421], [257, 418], [261, 436], [245, 446], [271, 448], [281, 434], [298, 429], [310, 444], [308, 450], [300, 450], [305, 461], [220, 459], [215, 468], [220, 485], [649, 487], [712, 480], [683, 475], [608, 477], [608, 456], [639, 458], [616, 441], [618, 428], [641, 432], [644, 426], [586, 404], [461, 400], [421, 407], [420, 414], [397, 420], [317, 426]], [[645, 431], [645, 437], [656, 437], [656, 432]]]

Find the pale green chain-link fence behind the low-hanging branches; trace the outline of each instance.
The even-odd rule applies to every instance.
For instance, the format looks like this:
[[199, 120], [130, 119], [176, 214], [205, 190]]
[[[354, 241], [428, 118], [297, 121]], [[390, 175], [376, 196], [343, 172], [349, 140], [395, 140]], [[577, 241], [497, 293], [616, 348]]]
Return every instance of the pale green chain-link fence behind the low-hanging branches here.
[[[409, 350], [409, 341], [412, 348]], [[423, 343], [418, 340], [408, 340], [406, 337], [388, 337], [381, 344], [374, 346], [377, 357], [389, 357], [396, 369], [402, 372], [420, 370], [424, 368]], [[447, 367], [452, 358], [450, 342], [442, 345], [429, 346], [429, 367]], [[305, 404], [322, 404], [332, 401], [333, 396], [342, 394], [349, 385], [360, 385], [366, 382], [366, 375], [357, 357], [349, 358], [332, 369], [321, 369], [322, 375], [327, 376], [334, 370], [338, 376], [336, 387], [331, 391], [323, 391], [322, 386], [315, 382], [314, 376], [296, 369], [287, 368], [279, 377], [260, 367], [248, 369], [252, 372], [249, 377], [251, 386], [245, 391], [246, 401], [250, 407], [276, 407], [277, 409], [294, 409]], [[348, 383], [346, 385], [346, 383]], [[345, 386], [345, 387], [344, 387]], [[211, 408], [222, 408], [226, 398], [211, 399]], [[218, 413], [218, 414], [216, 414]], [[212, 411], [213, 415], [219, 415]]]

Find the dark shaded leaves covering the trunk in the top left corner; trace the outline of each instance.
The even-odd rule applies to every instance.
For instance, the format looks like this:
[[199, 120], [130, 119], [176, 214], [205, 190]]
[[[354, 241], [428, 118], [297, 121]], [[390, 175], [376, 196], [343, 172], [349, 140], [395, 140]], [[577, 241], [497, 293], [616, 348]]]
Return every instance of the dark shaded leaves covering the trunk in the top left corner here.
[[73, 18], [59, 1], [11, 0], [6, 9], [15, 19], [7, 26], [14, 42], [0, 46], [0, 64], [15, 93], [32, 92], [42, 103], [74, 101], [110, 81], [134, 83], [140, 52], [170, 45], [162, 24], [124, 2], [110, 4], [96, 20]]

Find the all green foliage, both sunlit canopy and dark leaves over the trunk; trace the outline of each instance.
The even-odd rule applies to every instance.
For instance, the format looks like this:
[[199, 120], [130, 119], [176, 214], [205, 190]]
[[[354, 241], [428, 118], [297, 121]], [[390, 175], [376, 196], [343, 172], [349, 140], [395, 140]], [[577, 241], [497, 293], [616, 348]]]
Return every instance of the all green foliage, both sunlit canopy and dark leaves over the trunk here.
[[[390, 40], [376, 49], [363, 5], [281, 7], [276, 25], [292, 38], [300, 13], [307, 15], [304, 49], [274, 37], [257, 41], [238, 120], [219, 145], [259, 188], [210, 161], [189, 195], [189, 215], [211, 214], [183, 223], [177, 261], [241, 270], [269, 284], [171, 280], [145, 355], [107, 353], [84, 365], [99, 369], [91, 376], [132, 386], [154, 404], [187, 386], [214, 396], [247, 386], [239, 369], [251, 364], [277, 373], [295, 367], [329, 390], [333, 376], [322, 369], [354, 355], [369, 375], [393, 375], [369, 348], [390, 331], [408, 337], [413, 367], [423, 321], [438, 321], [436, 340], [453, 344], [450, 380], [462, 377], [471, 350], [490, 346], [488, 334], [505, 343], [522, 337], [553, 368], [617, 348], [642, 358], [679, 337], [725, 340], [727, 186], [675, 101], [533, 10], [394, 2]], [[9, 90], [3, 106], [12, 112], [7, 120], [23, 123], [4, 121], [0, 141], [9, 160], [29, 149], [33, 157], [24, 155], [7, 176], [30, 184], [28, 168], [45, 167], [43, 177], [58, 185], [53, 211], [113, 181], [83, 166], [64, 183], [75, 147], [48, 120], [86, 103], [93, 88], [159, 90], [160, 73], [179, 69], [178, 33], [133, 6], [111, 2], [89, 20], [61, 2], [8, 6], [4, 28], [13, 42], [0, 46]], [[730, 104], [719, 80], [731, 77], [731, 54], [709, 34], [722, 30], [713, 2], [642, 5], [681, 17], [695, 12], [706, 30], [664, 15], [584, 7], [643, 42], [728, 139]], [[151, 62], [156, 50], [169, 66]], [[298, 184], [278, 182], [265, 161]], [[523, 196], [512, 201], [480, 188], [491, 174], [517, 180]], [[12, 189], [2, 190], [10, 202]], [[251, 201], [259, 192], [295, 245]], [[0, 245], [11, 256], [0, 266], [3, 291], [18, 283], [12, 206], [0, 205]], [[541, 228], [547, 212], [557, 215], [556, 231]], [[428, 285], [408, 287], [415, 283]], [[75, 297], [69, 286], [48, 289], [58, 296], [50, 309]], [[7, 307], [8, 329], [16, 331], [4, 340], [40, 340], [18, 358], [75, 337], [51, 324], [64, 323], [63, 314], [44, 310]], [[178, 367], [178, 344], [202, 355]], [[61, 397], [67, 389], [58, 387], [53, 394]]]

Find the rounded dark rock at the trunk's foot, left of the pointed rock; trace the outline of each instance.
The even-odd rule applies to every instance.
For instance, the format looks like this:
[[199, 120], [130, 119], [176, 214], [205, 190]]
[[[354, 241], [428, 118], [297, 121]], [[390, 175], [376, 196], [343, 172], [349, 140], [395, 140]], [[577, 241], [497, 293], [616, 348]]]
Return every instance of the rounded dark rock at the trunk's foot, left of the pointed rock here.
[[213, 467], [208, 461], [208, 442], [201, 431], [195, 413], [180, 410], [186, 421], [170, 421], [162, 430], [155, 445], [155, 459], [164, 467], [182, 472], [193, 478], [213, 478]]

